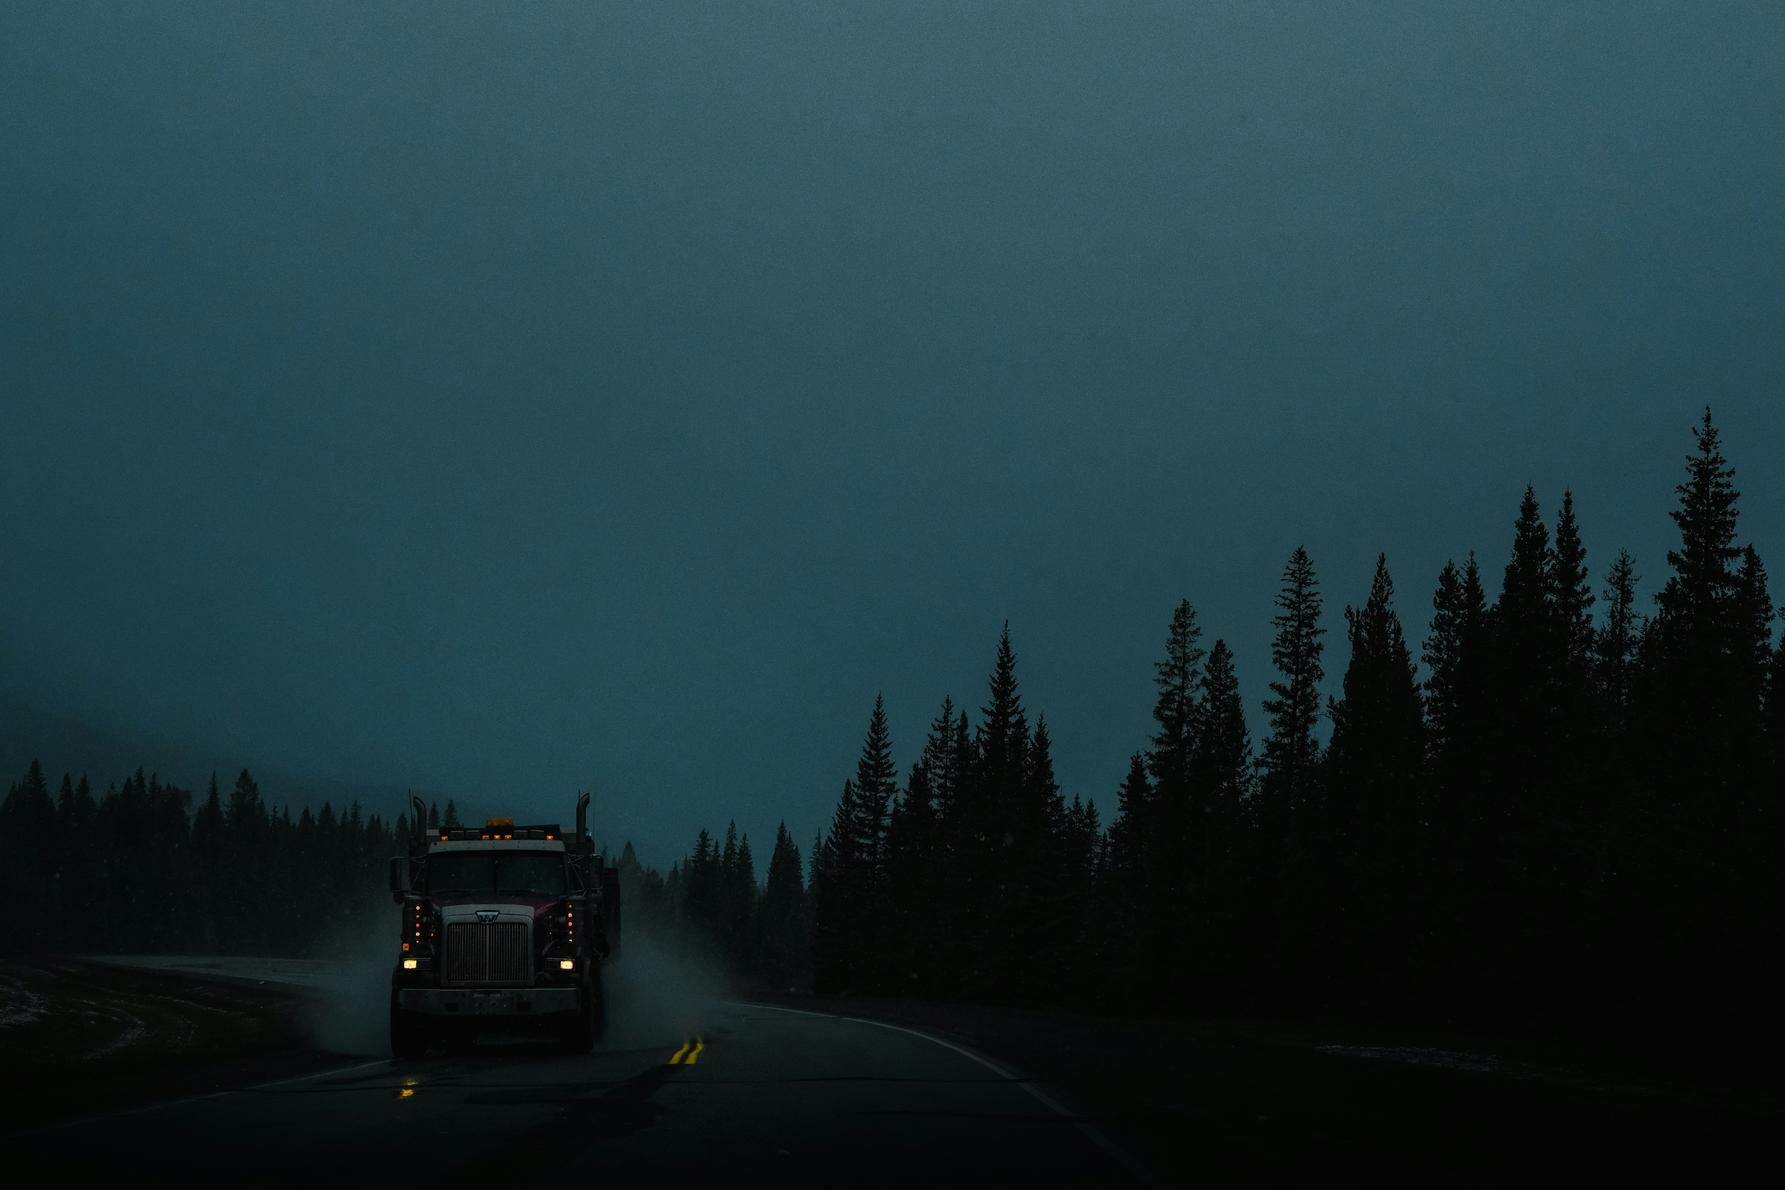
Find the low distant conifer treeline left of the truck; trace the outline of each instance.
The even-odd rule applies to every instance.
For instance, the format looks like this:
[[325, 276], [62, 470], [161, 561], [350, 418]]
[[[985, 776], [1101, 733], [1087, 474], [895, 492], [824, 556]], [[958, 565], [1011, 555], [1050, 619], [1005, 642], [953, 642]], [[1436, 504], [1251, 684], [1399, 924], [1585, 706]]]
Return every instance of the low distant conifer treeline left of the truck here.
[[[439, 812], [430, 814], [439, 824]], [[446, 821], [457, 821], [448, 803]], [[409, 819], [359, 805], [273, 808], [245, 769], [203, 799], [137, 771], [95, 797], [52, 792], [36, 762], [0, 803], [0, 947], [18, 951], [336, 956], [389, 915], [386, 858]]]

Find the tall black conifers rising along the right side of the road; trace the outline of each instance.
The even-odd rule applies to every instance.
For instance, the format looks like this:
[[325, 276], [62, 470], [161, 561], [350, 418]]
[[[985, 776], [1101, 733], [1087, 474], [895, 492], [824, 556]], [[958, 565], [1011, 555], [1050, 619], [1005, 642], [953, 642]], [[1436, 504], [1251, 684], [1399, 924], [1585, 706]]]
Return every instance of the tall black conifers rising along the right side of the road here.
[[1378, 558], [1324, 707], [1323, 596], [1298, 548], [1257, 753], [1233, 655], [1182, 603], [1108, 830], [1062, 797], [1009, 632], [978, 723], [944, 699], [903, 789], [876, 701], [816, 856], [816, 985], [1676, 1035], [1764, 1022], [1785, 924], [1785, 648], [1708, 412], [1694, 437], [1651, 614], [1628, 553], [1596, 596], [1571, 494], [1546, 525], [1526, 491], [1498, 598], [1474, 555], [1448, 564], [1419, 644]]

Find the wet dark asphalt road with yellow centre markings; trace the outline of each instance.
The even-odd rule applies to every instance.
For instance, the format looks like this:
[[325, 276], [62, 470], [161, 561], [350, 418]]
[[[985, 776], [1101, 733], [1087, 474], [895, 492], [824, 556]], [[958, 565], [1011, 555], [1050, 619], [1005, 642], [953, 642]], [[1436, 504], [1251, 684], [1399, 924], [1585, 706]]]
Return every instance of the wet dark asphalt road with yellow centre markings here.
[[755, 1004], [702, 1019], [575, 1058], [509, 1042], [346, 1065], [12, 1136], [11, 1158], [125, 1185], [1150, 1181], [1076, 1104], [951, 1042]]

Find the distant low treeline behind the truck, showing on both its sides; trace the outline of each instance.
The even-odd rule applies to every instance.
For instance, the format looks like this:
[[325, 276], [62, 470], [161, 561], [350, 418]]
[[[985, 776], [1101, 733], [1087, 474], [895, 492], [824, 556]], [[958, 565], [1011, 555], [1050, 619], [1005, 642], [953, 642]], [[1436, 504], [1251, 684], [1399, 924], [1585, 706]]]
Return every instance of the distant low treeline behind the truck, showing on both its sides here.
[[[427, 826], [462, 826], [448, 801]], [[137, 771], [95, 797], [86, 776], [52, 792], [32, 764], [0, 803], [0, 953], [362, 956], [393, 924], [386, 860], [407, 847], [359, 805], [291, 815], [245, 769], [203, 799]], [[748, 979], [810, 983], [812, 910], [800, 849], [782, 826], [768, 883], [750, 839], [702, 831], [664, 878], [628, 842], [619, 860], [630, 937], [675, 933]]]

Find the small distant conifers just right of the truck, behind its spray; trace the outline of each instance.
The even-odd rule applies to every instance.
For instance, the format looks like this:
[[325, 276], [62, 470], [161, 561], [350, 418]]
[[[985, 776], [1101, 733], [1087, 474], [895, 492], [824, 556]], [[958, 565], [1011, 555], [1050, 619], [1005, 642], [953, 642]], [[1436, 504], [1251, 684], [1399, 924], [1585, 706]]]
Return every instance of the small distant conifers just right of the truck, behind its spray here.
[[680, 933], [734, 974], [771, 988], [801, 988], [812, 972], [812, 906], [800, 847], [782, 822], [768, 881], [757, 883], [750, 835], [737, 824], [719, 844], [700, 831], [694, 851], [662, 876], [619, 853], [621, 905], [628, 935]]

